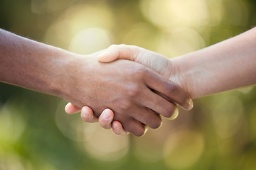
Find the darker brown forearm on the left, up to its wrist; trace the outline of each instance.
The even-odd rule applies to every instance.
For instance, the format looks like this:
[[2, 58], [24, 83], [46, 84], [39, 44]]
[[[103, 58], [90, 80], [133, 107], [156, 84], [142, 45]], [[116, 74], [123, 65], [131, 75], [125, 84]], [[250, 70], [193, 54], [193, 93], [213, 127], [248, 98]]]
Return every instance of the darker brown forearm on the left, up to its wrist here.
[[70, 55], [0, 29], [0, 81], [61, 96]]

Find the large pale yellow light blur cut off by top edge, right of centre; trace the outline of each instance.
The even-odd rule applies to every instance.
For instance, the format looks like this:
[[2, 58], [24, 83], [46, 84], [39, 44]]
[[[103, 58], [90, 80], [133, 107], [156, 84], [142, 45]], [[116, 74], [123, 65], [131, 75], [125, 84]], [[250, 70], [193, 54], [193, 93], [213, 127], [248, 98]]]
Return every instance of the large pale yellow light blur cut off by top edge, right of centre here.
[[205, 26], [208, 23], [208, 8], [204, 0], [142, 0], [144, 16], [160, 26]]

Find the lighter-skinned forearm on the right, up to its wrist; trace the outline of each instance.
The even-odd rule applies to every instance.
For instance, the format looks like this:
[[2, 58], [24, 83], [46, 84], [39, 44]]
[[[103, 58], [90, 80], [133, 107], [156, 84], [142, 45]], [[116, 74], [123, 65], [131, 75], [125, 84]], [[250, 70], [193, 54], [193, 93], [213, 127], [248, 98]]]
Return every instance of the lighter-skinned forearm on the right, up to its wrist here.
[[[174, 67], [192, 98], [256, 84], [256, 29], [176, 57]], [[176, 75], [177, 76], [177, 75]]]

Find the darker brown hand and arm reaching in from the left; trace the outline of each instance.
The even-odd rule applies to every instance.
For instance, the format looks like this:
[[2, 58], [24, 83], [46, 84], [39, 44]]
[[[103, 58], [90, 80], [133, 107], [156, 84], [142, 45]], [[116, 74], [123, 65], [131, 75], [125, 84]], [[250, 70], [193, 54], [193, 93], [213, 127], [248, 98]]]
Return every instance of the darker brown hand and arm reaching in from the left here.
[[[106, 108], [134, 135], [146, 125], [159, 128], [176, 103], [189, 108], [191, 98], [169, 79], [128, 60], [110, 64], [97, 53], [78, 55], [0, 29], [0, 81], [64, 98], [99, 116]], [[175, 102], [174, 102], [175, 101]], [[103, 114], [104, 115], [104, 114]]]

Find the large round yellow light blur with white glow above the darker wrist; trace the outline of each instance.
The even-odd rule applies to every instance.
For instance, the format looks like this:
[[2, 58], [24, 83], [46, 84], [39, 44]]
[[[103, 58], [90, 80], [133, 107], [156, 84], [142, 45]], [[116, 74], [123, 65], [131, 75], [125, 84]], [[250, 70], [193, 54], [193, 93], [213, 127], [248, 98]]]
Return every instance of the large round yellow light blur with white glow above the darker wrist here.
[[[81, 4], [70, 6], [67, 10], [63, 11], [57, 21], [53, 22], [53, 24], [46, 30], [44, 41], [50, 45], [55, 45], [68, 50], [70, 41], [73, 40], [75, 36], [79, 34], [83, 36], [82, 38], [85, 38], [84, 35], [87, 36], [89, 34], [85, 40], [76, 37], [75, 40], [79, 39], [78, 43], [82, 41], [82, 44], [75, 44], [78, 47], [73, 47], [71, 50], [87, 53], [87, 49], [92, 47], [92, 50], [90, 51], [95, 52], [95, 49], [101, 50], [102, 43], [105, 43], [106, 40], [107, 45], [110, 44], [109, 38], [106, 38], [106, 36], [109, 36], [109, 33], [106, 32], [107, 30], [111, 30], [112, 26], [114, 26], [113, 18], [112, 11], [105, 4]], [[92, 35], [88, 32], [85, 34], [85, 30], [88, 29]], [[100, 33], [100, 35], [95, 35], [97, 33]], [[87, 42], [88, 39], [92, 40], [93, 44]], [[95, 40], [98, 40], [96, 45]], [[84, 42], [87, 42], [84, 44], [87, 45], [87, 47], [83, 46]], [[103, 45], [103, 47], [106, 47], [107, 45]], [[83, 50], [84, 47], [85, 50]]]

